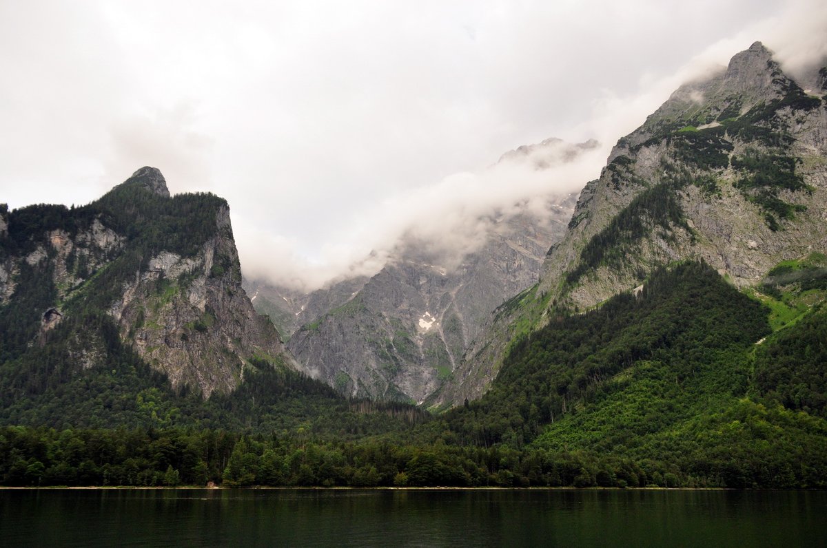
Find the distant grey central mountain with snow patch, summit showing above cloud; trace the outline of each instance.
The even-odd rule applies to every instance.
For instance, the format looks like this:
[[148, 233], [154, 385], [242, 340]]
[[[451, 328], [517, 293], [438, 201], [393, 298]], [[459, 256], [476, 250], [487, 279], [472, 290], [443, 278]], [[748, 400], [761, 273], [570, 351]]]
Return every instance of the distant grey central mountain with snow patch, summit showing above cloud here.
[[[542, 174], [596, 145], [549, 139], [506, 153], [498, 165], [528, 164]], [[314, 378], [351, 397], [423, 403], [461, 367], [491, 311], [533, 284], [574, 200], [548, 194], [502, 204], [476, 221], [476, 242], [460, 250], [406, 235], [370, 279], [346, 279], [305, 296], [266, 284], [246, 287], [256, 309], [282, 329], [301, 325], [287, 344]]]

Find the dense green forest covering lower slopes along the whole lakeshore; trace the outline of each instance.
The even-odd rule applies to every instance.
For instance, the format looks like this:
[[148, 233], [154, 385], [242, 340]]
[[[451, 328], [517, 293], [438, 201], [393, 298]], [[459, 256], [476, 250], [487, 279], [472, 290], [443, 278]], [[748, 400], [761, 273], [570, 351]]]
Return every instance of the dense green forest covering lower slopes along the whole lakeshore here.
[[676, 264], [552, 319], [483, 398], [441, 415], [267, 362], [203, 401], [112, 333], [106, 368], [62, 378], [44, 350], [0, 370], [16, 391], [0, 483], [824, 488], [825, 311], [775, 332], [771, 315], [709, 266]]

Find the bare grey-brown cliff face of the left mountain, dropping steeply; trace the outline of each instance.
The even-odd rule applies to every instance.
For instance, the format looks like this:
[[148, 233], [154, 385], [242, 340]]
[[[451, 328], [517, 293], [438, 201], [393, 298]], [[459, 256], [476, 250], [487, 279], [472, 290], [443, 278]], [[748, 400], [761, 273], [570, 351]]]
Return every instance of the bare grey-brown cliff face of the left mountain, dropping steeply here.
[[236, 388], [251, 356], [294, 364], [241, 288], [226, 206], [218, 209], [216, 236], [197, 255], [155, 255], [125, 284], [111, 313], [148, 363], [174, 386], [198, 388], [205, 397]]

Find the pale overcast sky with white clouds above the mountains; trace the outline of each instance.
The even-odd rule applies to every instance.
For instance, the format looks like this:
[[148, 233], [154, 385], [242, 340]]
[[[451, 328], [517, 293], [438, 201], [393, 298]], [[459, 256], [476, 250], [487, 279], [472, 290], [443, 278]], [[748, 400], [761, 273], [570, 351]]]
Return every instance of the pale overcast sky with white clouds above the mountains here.
[[548, 175], [576, 191], [710, 64], [825, 55], [823, 4], [0, 0], [0, 202], [88, 203], [152, 165], [227, 198], [246, 274], [318, 284], [446, 204], [543, 189], [482, 175], [506, 150], [597, 139]]

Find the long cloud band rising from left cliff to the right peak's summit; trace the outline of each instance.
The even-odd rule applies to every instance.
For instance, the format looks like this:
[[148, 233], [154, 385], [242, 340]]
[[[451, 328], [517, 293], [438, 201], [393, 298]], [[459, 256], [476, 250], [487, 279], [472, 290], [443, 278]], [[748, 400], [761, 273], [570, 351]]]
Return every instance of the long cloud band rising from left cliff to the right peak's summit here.
[[595, 179], [619, 137], [639, 126], [682, 83], [723, 70], [732, 55], [753, 41], [763, 41], [794, 77], [811, 74], [827, 60], [825, 28], [827, 7], [809, 0], [790, 2], [772, 17], [706, 46], [672, 74], [643, 74], [638, 93], [620, 96], [601, 90], [590, 119], [563, 134], [597, 140], [581, 146], [577, 155], [571, 155], [572, 145], [544, 141], [531, 147], [530, 154], [504, 155], [488, 169], [397, 193], [356, 212], [347, 227], [330, 235], [317, 260], [307, 260], [298, 241], [242, 225], [238, 245], [245, 274], [311, 290], [332, 280], [375, 274], [411, 239], [461, 260], [484, 241], [498, 218], [523, 212], [543, 222], [548, 199], [577, 193]]

